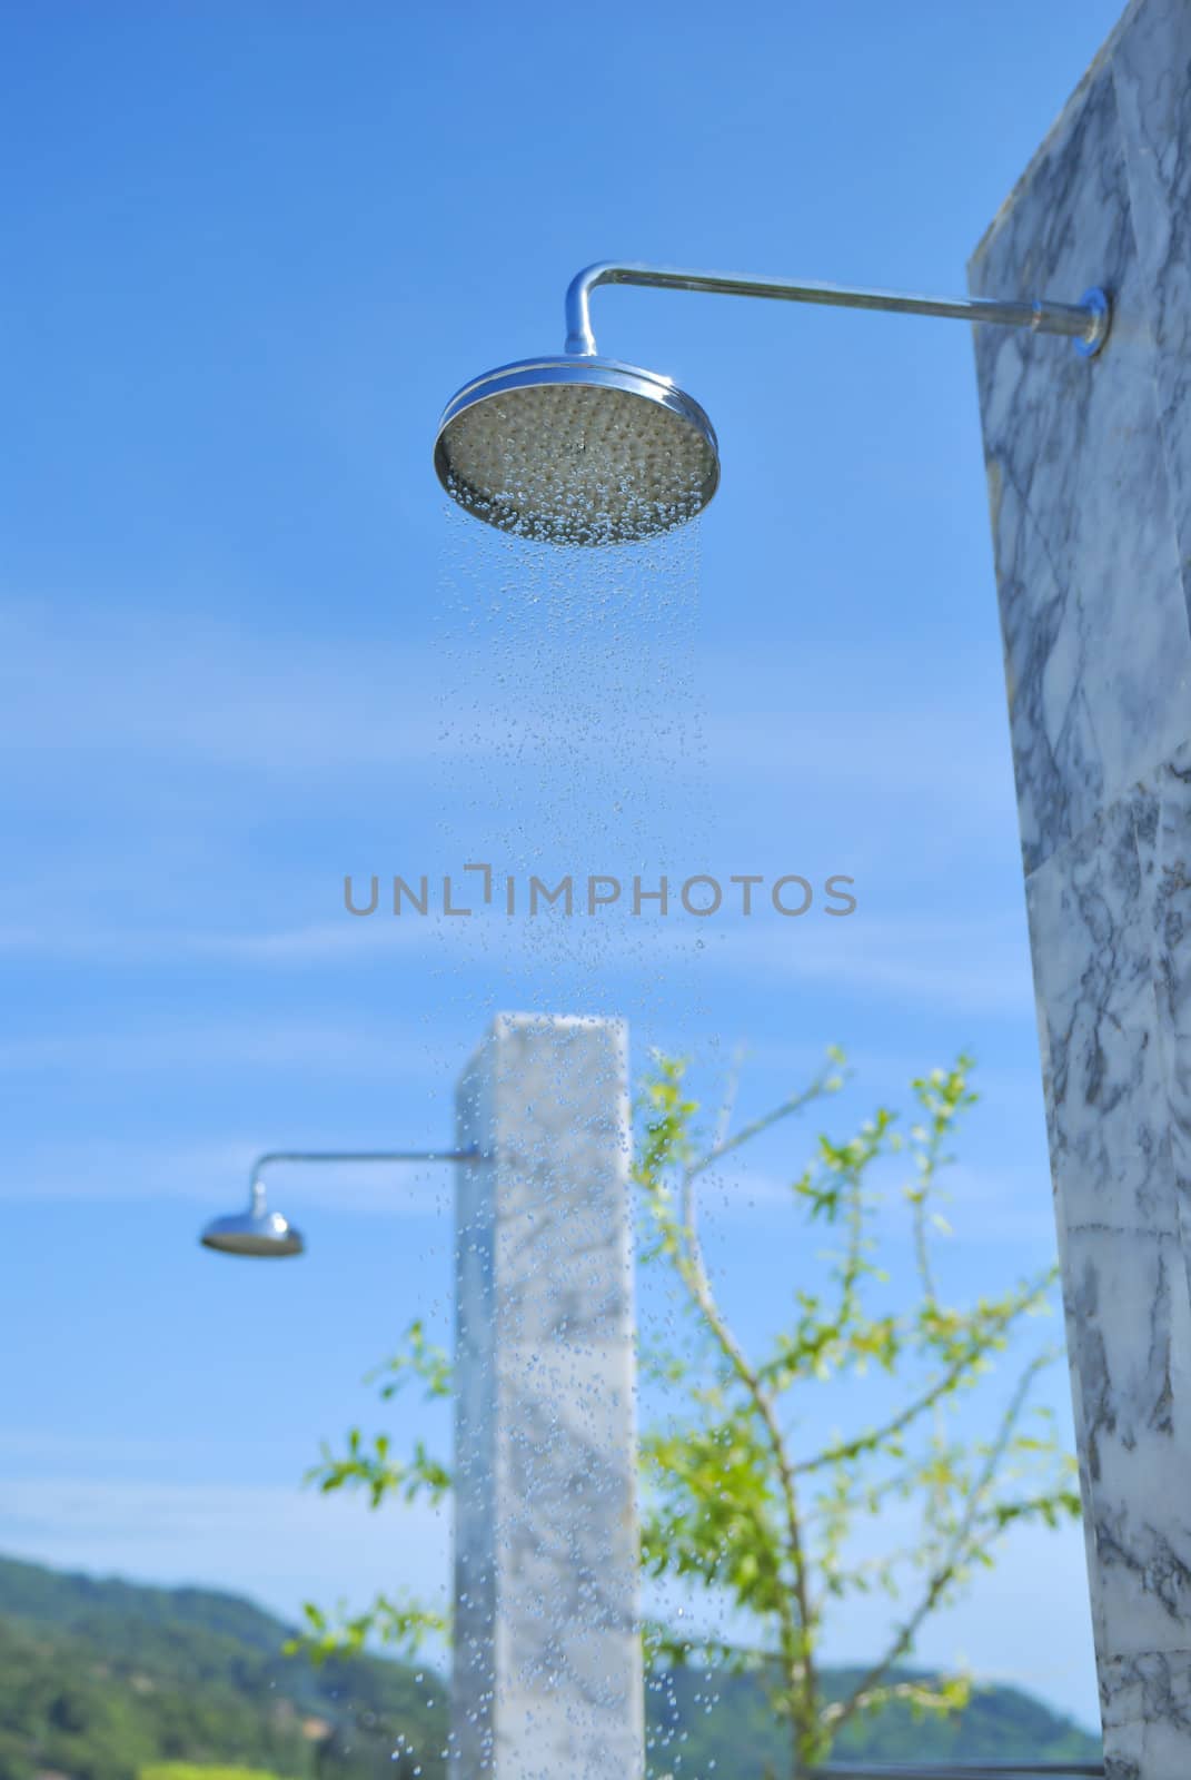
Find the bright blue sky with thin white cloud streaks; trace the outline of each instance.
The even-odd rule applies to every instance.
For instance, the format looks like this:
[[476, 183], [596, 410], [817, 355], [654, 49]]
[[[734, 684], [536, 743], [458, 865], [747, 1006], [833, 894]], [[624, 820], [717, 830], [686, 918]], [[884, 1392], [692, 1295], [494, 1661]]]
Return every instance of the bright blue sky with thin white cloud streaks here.
[[[701, 525], [616, 568], [449, 513], [431, 441], [465, 379], [561, 349], [596, 258], [961, 290], [1116, 11], [5, 20], [2, 1549], [287, 1613], [442, 1586], [443, 1524], [297, 1479], [409, 1315], [449, 1326], [449, 1180], [278, 1180], [287, 1267], [194, 1235], [262, 1148], [445, 1143], [495, 1007], [627, 1013], [637, 1061], [746, 1043], [746, 1112], [842, 1043], [837, 1130], [967, 1045], [949, 1278], [1052, 1257], [968, 329], [602, 290], [600, 347], [723, 450]], [[847, 872], [860, 908], [342, 910], [344, 872], [488, 856]], [[716, 1214], [751, 1335], [806, 1262], [773, 1191], [803, 1150]], [[1049, 1401], [1070, 1438], [1057, 1371]], [[920, 1654], [1093, 1721], [1082, 1565], [1077, 1531], [1022, 1534]]]

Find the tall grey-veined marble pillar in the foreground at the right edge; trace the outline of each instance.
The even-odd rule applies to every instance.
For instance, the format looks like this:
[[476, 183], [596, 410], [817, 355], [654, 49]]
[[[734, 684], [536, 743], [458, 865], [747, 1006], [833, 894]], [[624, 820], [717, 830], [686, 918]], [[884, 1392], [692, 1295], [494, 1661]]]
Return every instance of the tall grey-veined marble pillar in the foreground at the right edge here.
[[1186, 0], [1125, 11], [968, 274], [979, 295], [1114, 299], [1097, 360], [997, 328], [976, 354], [1107, 1771], [1186, 1780]]

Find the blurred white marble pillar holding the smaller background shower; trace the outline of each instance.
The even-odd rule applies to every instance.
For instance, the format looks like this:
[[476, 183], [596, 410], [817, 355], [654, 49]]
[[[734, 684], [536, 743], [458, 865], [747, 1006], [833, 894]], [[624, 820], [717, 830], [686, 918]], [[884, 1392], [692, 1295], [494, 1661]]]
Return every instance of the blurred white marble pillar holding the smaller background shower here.
[[639, 1780], [627, 1034], [500, 1015], [458, 1089], [454, 1780]]

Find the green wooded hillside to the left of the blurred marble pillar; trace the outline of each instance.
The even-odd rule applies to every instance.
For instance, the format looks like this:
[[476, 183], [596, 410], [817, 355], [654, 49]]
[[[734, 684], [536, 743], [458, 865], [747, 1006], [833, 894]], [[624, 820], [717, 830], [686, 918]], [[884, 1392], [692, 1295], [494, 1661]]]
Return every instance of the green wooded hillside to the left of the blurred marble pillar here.
[[[434, 1675], [418, 1684], [381, 1657], [313, 1668], [281, 1654], [290, 1632], [239, 1595], [0, 1558], [0, 1780], [132, 1780], [158, 1760], [442, 1780]], [[395, 1762], [399, 1736], [409, 1757]]]

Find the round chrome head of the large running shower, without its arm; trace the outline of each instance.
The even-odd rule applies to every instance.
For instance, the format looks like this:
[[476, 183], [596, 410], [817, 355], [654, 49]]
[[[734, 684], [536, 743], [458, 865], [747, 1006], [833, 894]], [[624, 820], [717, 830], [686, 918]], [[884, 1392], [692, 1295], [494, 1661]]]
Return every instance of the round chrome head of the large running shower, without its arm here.
[[701, 513], [719, 447], [696, 400], [609, 358], [536, 358], [447, 404], [438, 479], [488, 525], [543, 543], [637, 543]]

